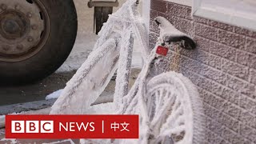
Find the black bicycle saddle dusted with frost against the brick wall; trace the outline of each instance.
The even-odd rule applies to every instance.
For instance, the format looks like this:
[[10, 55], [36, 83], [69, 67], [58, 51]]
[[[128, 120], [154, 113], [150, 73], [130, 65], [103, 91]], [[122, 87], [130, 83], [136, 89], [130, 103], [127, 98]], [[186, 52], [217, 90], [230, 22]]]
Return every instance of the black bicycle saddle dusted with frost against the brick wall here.
[[194, 50], [196, 42], [189, 35], [176, 29], [166, 18], [157, 17], [154, 19], [160, 28], [160, 38], [162, 42], [179, 44], [186, 50]]

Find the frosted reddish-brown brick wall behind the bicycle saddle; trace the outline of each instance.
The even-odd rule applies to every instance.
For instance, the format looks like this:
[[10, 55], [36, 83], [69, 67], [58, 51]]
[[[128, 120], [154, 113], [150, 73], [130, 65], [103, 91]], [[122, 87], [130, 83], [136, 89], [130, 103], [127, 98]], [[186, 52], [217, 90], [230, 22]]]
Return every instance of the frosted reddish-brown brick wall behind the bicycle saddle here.
[[206, 143], [256, 143], [256, 32], [192, 18], [189, 6], [151, 0], [151, 47], [159, 33], [157, 16], [198, 42], [197, 50], [182, 50], [179, 70], [204, 101]]

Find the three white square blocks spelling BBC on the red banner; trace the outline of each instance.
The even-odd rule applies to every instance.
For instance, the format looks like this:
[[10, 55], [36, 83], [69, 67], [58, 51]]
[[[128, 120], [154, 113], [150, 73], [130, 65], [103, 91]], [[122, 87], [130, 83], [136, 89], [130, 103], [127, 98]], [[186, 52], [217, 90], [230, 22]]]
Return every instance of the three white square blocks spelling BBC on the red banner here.
[[54, 133], [54, 121], [11, 121], [11, 133]]

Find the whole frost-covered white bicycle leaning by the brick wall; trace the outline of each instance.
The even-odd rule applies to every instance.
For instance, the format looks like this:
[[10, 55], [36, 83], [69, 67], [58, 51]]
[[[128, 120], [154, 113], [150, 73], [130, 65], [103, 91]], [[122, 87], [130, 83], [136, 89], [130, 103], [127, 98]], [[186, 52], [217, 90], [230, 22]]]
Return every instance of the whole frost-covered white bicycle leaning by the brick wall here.
[[[188, 78], [170, 71], [169, 50], [194, 49], [195, 42], [165, 18], [157, 46], [150, 50], [138, 1], [128, 0], [110, 15], [89, 58], [67, 83], [50, 114], [139, 114], [139, 139], [90, 140], [82, 143], [201, 143], [204, 140], [202, 102]], [[141, 43], [144, 66], [129, 90], [134, 39]], [[168, 48], [159, 49], [159, 46]], [[162, 51], [164, 50], [164, 51]], [[164, 56], [166, 55], [166, 56]], [[91, 106], [117, 70], [114, 102]], [[169, 72], [168, 72], [169, 71]]]

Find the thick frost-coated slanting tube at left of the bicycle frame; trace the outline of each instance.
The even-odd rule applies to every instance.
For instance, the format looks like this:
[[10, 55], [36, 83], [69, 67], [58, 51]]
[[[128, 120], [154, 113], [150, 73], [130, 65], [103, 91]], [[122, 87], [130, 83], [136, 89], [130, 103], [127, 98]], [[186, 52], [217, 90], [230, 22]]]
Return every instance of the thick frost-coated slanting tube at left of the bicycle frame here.
[[66, 84], [51, 114], [86, 114], [87, 108], [102, 94], [117, 69], [118, 51], [115, 47], [115, 40], [110, 38], [89, 55]]

